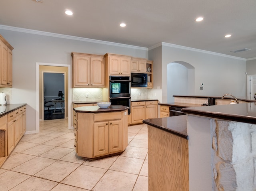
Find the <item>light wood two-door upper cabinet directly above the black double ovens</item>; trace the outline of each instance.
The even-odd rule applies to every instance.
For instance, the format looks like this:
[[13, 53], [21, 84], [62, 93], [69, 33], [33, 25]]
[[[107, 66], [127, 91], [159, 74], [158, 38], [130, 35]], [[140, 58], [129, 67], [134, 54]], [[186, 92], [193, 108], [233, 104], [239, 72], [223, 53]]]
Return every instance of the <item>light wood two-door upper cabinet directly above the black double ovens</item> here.
[[108, 75], [130, 76], [131, 75], [131, 57], [106, 53], [106, 70]]

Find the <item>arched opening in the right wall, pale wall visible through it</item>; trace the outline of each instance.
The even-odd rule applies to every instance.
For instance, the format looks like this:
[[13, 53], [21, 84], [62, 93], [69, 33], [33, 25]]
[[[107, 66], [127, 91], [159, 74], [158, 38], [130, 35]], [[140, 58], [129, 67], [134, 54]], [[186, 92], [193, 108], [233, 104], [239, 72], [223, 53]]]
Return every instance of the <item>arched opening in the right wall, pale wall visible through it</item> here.
[[173, 95], [194, 95], [194, 67], [184, 61], [167, 65], [167, 102], [174, 102]]

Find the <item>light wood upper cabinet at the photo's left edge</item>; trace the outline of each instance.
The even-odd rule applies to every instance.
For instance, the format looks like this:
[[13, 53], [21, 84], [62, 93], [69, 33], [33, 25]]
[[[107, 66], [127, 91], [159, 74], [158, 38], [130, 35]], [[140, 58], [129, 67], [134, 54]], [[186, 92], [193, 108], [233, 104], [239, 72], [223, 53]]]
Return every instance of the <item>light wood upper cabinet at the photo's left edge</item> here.
[[0, 87], [12, 87], [13, 47], [0, 35]]

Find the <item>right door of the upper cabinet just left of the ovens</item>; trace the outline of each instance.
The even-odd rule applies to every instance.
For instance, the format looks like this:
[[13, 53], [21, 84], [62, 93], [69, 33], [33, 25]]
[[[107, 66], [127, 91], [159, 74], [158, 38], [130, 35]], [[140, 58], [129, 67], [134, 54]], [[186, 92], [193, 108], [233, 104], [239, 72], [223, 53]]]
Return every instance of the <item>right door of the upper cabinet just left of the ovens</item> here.
[[104, 58], [91, 57], [91, 79], [90, 85], [104, 87]]

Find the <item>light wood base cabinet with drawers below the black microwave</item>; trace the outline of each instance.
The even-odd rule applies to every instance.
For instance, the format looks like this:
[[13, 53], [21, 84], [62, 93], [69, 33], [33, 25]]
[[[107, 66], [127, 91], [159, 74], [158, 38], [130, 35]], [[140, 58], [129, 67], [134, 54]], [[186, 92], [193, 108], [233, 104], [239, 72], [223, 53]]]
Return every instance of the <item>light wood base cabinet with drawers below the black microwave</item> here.
[[157, 118], [158, 101], [135, 101], [131, 102], [131, 124], [142, 123], [144, 119]]

